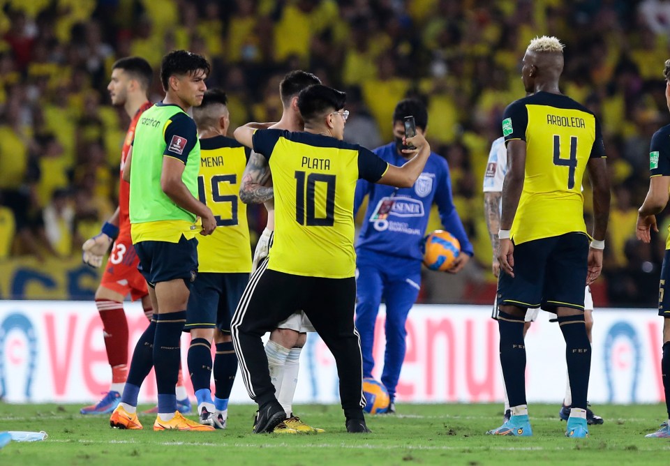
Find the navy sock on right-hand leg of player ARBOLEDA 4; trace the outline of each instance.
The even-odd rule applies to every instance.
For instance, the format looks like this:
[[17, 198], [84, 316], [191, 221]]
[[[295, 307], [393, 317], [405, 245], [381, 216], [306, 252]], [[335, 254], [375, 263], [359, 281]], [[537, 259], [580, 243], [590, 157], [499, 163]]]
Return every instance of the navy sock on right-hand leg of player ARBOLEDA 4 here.
[[588, 341], [584, 315], [558, 317], [558, 325], [565, 339], [565, 362], [572, 391], [572, 407], [586, 409], [591, 343]]

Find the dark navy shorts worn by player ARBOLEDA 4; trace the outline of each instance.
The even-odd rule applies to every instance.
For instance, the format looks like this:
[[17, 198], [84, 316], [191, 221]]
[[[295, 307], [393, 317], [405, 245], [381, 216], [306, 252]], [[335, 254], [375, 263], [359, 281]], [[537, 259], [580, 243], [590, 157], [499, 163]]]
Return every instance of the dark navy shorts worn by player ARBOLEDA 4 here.
[[567, 233], [514, 245], [514, 278], [500, 271], [498, 306], [584, 309], [588, 236]]

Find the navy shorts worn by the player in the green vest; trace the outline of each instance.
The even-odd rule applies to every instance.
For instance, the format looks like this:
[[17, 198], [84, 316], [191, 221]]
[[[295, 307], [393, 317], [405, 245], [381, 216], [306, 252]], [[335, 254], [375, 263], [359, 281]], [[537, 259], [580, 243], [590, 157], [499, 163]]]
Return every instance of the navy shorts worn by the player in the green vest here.
[[179, 243], [140, 241], [135, 244], [135, 252], [140, 257], [137, 270], [152, 288], [156, 283], [177, 278], [182, 278], [190, 288], [198, 275], [198, 240], [195, 238], [186, 239], [182, 235]]

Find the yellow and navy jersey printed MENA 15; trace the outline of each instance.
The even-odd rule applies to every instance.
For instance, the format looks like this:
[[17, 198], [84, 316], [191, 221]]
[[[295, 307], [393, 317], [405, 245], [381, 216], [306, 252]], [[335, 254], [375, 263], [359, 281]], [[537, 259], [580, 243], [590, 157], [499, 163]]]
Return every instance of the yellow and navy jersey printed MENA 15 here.
[[239, 183], [249, 149], [225, 136], [200, 140], [198, 197], [216, 218], [216, 230], [198, 236], [198, 271], [249, 273], [251, 240], [246, 204], [239, 201]]

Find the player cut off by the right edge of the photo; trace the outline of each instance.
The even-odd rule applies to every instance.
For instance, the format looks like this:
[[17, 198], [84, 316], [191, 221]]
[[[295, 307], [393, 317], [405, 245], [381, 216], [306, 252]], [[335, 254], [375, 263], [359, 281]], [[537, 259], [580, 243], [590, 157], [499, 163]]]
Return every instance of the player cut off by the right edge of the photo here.
[[[665, 99], [670, 110], [670, 60], [665, 62]], [[644, 243], [651, 241], [650, 230], [658, 232], [656, 214], [661, 213], [670, 197], [670, 125], [657, 130], [651, 138], [649, 153], [651, 179], [649, 192], [639, 210], [637, 217], [637, 238]], [[658, 289], [658, 315], [663, 317], [663, 356], [661, 358], [661, 374], [665, 391], [665, 406], [668, 420], [661, 424], [656, 432], [645, 437], [670, 437], [670, 293], [665, 294], [666, 283], [670, 283], [670, 236], [665, 245], [665, 257], [661, 268], [661, 280]]]

